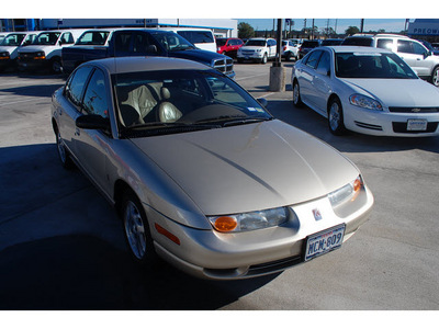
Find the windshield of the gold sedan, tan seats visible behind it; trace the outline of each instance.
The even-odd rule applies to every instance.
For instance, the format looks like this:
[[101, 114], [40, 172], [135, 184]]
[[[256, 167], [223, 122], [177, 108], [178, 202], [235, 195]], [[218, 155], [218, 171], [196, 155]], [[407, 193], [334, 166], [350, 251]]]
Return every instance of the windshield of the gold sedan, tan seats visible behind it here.
[[271, 120], [262, 105], [227, 77], [213, 70], [119, 73], [121, 131], [157, 135], [218, 128]]

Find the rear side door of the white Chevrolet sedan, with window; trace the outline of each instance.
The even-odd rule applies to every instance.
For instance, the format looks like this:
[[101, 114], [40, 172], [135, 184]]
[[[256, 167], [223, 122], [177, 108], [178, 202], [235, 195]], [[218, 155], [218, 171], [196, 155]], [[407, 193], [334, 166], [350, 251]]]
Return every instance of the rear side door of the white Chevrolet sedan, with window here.
[[314, 50], [309, 53], [309, 55], [305, 58], [304, 65], [301, 68], [299, 78], [302, 101], [313, 109], [316, 106], [314, 77], [316, 75], [316, 68], [322, 50]]

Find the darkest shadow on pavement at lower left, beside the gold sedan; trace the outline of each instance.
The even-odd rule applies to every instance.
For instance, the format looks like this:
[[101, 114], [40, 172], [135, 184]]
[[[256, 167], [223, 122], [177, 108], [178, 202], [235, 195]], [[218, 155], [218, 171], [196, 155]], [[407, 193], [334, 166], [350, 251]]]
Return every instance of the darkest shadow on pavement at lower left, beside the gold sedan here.
[[0, 252], [0, 309], [206, 310], [228, 305], [277, 275], [203, 281], [167, 264], [140, 268], [127, 252], [90, 236], [59, 236]]

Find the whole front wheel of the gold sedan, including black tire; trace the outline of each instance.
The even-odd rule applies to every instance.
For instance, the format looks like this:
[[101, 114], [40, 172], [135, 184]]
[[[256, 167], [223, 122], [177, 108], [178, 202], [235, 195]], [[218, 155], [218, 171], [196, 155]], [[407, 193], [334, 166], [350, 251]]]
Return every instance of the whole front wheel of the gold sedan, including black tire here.
[[143, 265], [155, 265], [158, 256], [154, 249], [148, 220], [142, 203], [131, 191], [123, 196], [121, 216], [133, 259]]

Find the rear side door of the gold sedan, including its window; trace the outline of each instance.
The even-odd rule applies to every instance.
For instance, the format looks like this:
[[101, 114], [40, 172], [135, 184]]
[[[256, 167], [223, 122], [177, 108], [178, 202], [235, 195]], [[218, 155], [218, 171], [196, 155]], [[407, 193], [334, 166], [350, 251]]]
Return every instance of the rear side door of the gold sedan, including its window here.
[[56, 109], [59, 133], [61, 138], [76, 157], [75, 137], [76, 137], [76, 118], [81, 115], [81, 101], [86, 83], [89, 79], [92, 68], [90, 66], [77, 69], [67, 80], [64, 90], [64, 98], [60, 98], [58, 109]]

